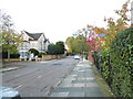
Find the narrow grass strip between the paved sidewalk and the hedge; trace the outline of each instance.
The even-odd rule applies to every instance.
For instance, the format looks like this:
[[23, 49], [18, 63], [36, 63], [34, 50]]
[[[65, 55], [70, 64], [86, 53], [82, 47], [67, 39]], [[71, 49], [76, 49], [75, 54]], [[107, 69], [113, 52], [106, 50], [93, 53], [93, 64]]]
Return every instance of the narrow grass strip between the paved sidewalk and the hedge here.
[[102, 78], [102, 76], [99, 73], [99, 70], [95, 67], [95, 65], [92, 65], [92, 69], [93, 69], [93, 73], [95, 75], [96, 81], [98, 81], [99, 86], [101, 87], [104, 96], [105, 97], [111, 97], [111, 98], [115, 99], [115, 96], [111, 91], [111, 88], [109, 87], [109, 85], [106, 84], [106, 81]]

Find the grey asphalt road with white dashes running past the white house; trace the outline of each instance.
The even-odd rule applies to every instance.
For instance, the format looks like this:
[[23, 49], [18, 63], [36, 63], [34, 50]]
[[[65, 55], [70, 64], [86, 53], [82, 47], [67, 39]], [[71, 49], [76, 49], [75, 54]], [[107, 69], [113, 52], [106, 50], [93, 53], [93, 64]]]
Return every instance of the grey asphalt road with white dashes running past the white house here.
[[22, 97], [44, 97], [76, 65], [73, 57], [19, 63], [17, 70], [2, 74], [2, 85], [17, 89]]

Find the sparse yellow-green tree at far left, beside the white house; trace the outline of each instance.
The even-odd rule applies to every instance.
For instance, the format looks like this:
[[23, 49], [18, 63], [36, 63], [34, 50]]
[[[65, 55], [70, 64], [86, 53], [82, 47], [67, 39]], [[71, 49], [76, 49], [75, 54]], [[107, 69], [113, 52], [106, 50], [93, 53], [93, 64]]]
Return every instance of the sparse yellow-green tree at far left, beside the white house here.
[[11, 16], [3, 13], [0, 10], [0, 36], [2, 52], [8, 52], [8, 58], [10, 58], [10, 52], [17, 51], [19, 43], [21, 42], [21, 36], [17, 34], [13, 30], [13, 23]]

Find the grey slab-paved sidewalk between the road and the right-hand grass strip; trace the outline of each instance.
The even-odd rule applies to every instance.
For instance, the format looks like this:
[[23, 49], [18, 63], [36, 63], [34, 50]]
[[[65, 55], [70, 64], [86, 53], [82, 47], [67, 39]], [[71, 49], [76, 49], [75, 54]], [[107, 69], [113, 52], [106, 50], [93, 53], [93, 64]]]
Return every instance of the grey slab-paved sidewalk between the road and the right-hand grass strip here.
[[49, 97], [104, 97], [90, 64], [80, 62]]

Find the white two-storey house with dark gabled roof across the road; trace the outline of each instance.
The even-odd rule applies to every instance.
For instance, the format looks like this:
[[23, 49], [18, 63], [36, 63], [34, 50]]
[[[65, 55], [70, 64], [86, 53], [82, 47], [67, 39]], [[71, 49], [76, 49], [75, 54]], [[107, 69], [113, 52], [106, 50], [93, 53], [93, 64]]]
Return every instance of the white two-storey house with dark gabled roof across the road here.
[[29, 33], [27, 31], [22, 31], [21, 37], [22, 43], [19, 46], [20, 58], [28, 58], [30, 55], [29, 50], [31, 48], [35, 48], [39, 52], [48, 51], [50, 42], [43, 33]]

